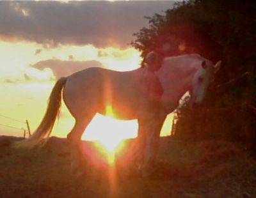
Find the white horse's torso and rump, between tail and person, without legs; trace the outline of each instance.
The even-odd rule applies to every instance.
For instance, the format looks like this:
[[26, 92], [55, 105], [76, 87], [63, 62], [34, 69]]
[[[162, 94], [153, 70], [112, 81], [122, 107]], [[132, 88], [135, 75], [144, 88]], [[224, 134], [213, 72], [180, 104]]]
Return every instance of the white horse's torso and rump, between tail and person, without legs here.
[[100, 112], [111, 105], [120, 118], [133, 119], [138, 101], [139, 71], [87, 68], [67, 77], [63, 99], [73, 116]]

